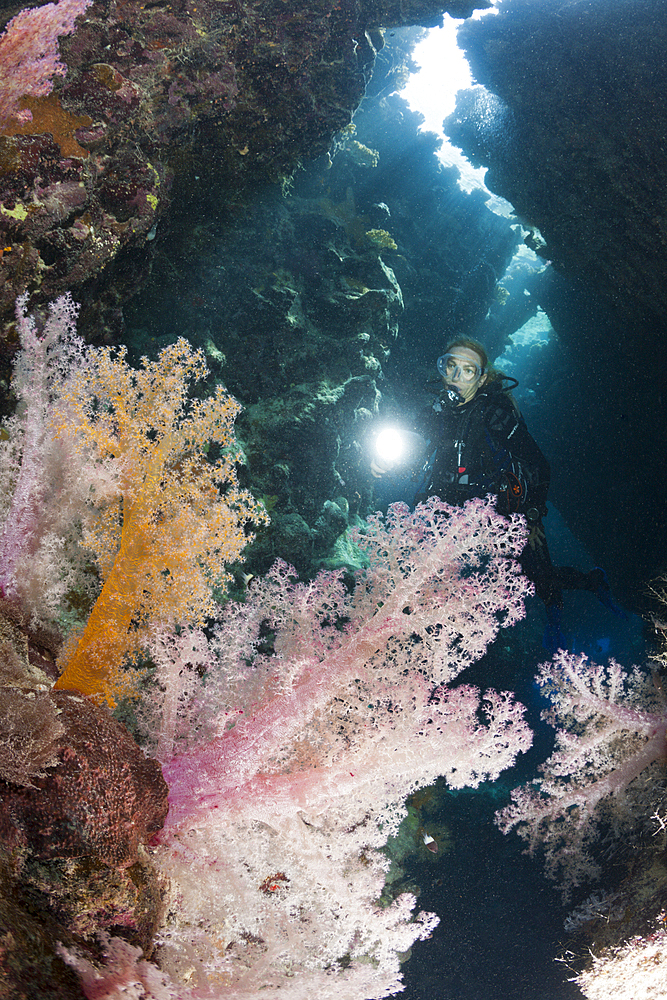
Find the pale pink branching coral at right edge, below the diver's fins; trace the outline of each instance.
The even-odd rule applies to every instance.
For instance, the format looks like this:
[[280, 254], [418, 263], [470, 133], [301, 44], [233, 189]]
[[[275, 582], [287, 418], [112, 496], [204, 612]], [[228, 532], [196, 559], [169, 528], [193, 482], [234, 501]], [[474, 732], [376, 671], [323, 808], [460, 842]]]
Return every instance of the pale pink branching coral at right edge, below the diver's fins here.
[[637, 668], [628, 674], [614, 660], [605, 668], [561, 650], [537, 682], [553, 702], [544, 717], [562, 727], [556, 751], [544, 778], [515, 789], [497, 822], [504, 833], [517, 827], [529, 853], [545, 847], [547, 874], [562, 872], [568, 898], [598, 873], [588, 851], [598, 824], [618, 839], [655, 808], [651, 765], [667, 753], [667, 712], [653, 678]]

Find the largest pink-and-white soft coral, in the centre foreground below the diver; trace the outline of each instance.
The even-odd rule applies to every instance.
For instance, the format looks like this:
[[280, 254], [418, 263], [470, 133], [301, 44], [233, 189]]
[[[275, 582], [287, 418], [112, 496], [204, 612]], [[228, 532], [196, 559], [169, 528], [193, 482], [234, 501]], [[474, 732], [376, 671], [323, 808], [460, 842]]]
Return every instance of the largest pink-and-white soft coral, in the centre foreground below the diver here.
[[400, 990], [399, 953], [437, 922], [410, 894], [378, 902], [406, 796], [439, 775], [474, 787], [530, 744], [511, 695], [446, 687], [522, 614], [520, 519], [432, 498], [356, 541], [369, 566], [352, 591], [278, 563], [227, 605], [208, 657], [201, 633], [156, 640], [161, 963], [212, 996]]

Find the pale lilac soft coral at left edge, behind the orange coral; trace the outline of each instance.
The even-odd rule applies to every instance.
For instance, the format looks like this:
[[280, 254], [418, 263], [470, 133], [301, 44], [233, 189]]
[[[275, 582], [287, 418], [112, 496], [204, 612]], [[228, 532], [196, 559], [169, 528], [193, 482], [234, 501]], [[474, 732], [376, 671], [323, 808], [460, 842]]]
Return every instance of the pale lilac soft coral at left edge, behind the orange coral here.
[[90, 590], [90, 554], [78, 529], [108, 487], [109, 470], [90, 452], [76, 452], [56, 431], [71, 378], [87, 366], [76, 333], [78, 305], [62, 295], [38, 324], [16, 303], [21, 350], [12, 388], [16, 415], [0, 441], [0, 595], [38, 620], [62, 610], [68, 589]]

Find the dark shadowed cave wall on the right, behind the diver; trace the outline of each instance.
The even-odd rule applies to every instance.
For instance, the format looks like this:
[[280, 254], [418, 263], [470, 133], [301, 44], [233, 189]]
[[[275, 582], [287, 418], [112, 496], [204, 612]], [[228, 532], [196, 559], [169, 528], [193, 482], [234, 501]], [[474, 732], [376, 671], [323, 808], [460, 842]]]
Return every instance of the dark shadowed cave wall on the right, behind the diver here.
[[479, 86], [445, 128], [551, 261], [553, 499], [641, 600], [666, 559], [667, 4], [498, 6], [459, 31]]

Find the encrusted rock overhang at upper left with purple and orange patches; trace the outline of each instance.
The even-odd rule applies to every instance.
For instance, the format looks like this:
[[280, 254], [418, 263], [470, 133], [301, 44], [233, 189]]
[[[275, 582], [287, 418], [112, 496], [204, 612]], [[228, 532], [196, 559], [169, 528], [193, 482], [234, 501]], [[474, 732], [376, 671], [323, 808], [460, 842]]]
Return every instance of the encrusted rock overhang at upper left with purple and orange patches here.
[[[286, 180], [348, 124], [381, 26], [441, 23], [448, 6], [465, 16], [487, 3], [77, 6], [85, 19], [60, 36], [49, 72], [26, 66], [20, 23], [0, 47], [7, 86], [25, 95], [0, 120], [0, 314], [10, 322], [25, 289], [36, 303], [85, 286], [88, 324], [117, 339], [106, 290], [136, 291], [174, 178], [195, 215], [204, 195], [230, 206]], [[31, 31], [53, 42], [48, 17]]]

